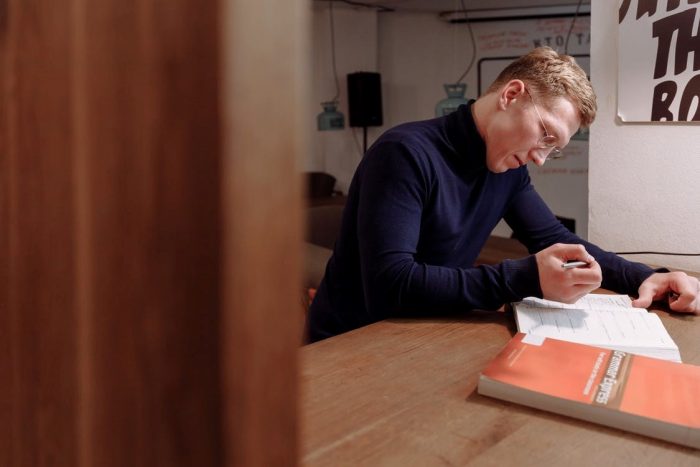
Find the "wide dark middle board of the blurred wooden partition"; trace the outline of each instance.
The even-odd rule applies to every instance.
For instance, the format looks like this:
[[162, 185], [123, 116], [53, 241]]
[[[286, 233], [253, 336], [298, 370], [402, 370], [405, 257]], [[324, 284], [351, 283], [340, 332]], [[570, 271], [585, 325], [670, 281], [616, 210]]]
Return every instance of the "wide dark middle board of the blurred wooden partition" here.
[[81, 1], [80, 429], [91, 465], [221, 461], [216, 9]]

